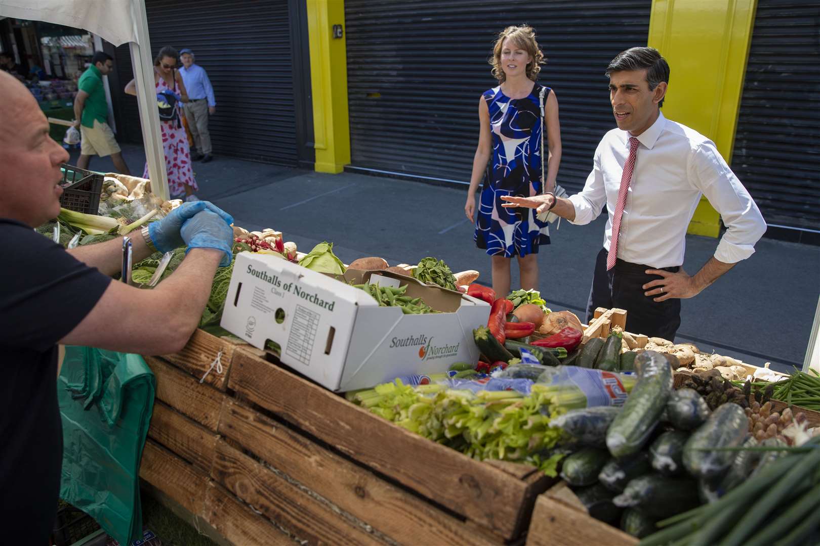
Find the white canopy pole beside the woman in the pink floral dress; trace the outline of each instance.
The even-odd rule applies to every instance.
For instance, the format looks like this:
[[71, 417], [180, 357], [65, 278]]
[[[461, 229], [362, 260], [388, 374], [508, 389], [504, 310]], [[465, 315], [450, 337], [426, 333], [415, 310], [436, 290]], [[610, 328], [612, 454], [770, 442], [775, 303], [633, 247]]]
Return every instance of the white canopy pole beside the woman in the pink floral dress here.
[[134, 66], [134, 83], [137, 84], [137, 106], [139, 121], [143, 129], [145, 160], [148, 162], [148, 178], [151, 191], [163, 201], [171, 199], [168, 190], [168, 174], [165, 169], [165, 151], [162, 149], [157, 91], [154, 86], [153, 57], [151, 41], [148, 38], [148, 19], [145, 16], [145, 1], [133, 0], [134, 35], [137, 43], [131, 42], [131, 65]]

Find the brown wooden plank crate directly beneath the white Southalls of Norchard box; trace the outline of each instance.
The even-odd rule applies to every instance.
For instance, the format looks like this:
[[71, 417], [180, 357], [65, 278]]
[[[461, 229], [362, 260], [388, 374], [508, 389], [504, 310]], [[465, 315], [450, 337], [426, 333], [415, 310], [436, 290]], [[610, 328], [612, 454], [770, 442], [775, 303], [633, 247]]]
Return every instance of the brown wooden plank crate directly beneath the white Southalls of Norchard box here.
[[553, 483], [405, 431], [250, 346], [231, 348], [225, 381], [200, 382], [191, 363], [221, 341], [198, 336], [146, 357], [157, 396], [140, 475], [233, 544], [513, 544]]

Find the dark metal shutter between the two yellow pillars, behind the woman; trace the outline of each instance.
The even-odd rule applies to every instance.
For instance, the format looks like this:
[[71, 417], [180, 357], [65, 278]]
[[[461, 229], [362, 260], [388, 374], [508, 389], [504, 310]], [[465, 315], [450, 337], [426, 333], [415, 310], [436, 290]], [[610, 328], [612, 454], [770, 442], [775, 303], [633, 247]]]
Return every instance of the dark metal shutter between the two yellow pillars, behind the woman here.
[[524, 22], [548, 63], [563, 157], [558, 182], [583, 187], [601, 137], [615, 127], [604, 70], [645, 45], [650, 0], [345, 0], [353, 169], [469, 183], [478, 100], [497, 85], [487, 60], [495, 35]]

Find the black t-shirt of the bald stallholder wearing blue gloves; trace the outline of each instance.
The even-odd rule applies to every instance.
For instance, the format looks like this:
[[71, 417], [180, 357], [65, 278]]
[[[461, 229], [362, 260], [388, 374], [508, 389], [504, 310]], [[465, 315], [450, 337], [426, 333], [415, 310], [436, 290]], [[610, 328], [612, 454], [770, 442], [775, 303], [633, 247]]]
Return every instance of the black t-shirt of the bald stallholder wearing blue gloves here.
[[10, 219], [0, 256], [0, 541], [48, 544], [62, 466], [56, 344], [111, 278]]

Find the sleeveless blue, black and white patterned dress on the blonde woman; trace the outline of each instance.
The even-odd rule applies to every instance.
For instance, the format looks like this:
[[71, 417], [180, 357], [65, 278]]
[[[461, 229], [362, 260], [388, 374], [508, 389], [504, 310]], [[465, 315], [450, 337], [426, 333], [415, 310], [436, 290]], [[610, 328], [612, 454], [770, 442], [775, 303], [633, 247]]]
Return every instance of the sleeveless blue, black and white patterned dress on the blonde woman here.
[[[501, 196], [530, 197], [541, 193], [541, 120], [535, 84], [529, 96], [511, 99], [501, 86], [484, 93], [490, 110], [493, 156], [479, 199], [476, 246], [489, 255], [526, 256], [537, 254], [539, 245], [549, 245], [549, 226], [540, 222], [535, 209], [504, 209]], [[544, 102], [549, 88], [544, 93]], [[546, 141], [544, 141], [546, 150]]]

